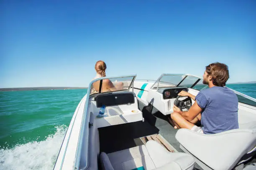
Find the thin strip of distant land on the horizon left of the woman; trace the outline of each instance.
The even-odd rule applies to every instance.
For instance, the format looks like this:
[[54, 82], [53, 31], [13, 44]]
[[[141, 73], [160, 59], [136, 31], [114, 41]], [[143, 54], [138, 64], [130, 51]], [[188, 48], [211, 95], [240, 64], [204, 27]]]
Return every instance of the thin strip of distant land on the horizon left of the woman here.
[[29, 90], [70, 90], [70, 89], [87, 89], [88, 87], [17, 87], [17, 88], [0, 88], [4, 91], [29, 91]]

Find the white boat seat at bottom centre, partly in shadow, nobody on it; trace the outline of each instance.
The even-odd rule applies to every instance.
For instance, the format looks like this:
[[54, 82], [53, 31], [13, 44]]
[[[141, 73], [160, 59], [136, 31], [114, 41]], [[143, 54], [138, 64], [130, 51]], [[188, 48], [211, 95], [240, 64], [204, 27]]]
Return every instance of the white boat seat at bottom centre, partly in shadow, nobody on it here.
[[101, 153], [102, 170], [192, 170], [195, 160], [186, 153], [171, 153], [154, 140], [146, 145]]

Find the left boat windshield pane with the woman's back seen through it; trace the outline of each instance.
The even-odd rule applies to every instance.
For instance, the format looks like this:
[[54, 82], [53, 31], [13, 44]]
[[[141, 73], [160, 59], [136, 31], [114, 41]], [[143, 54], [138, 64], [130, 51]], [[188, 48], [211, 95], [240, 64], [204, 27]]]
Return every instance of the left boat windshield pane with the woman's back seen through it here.
[[[136, 75], [122, 77], [101, 77], [90, 83], [90, 95], [104, 92], [130, 90]], [[101, 87], [101, 88], [100, 88]]]

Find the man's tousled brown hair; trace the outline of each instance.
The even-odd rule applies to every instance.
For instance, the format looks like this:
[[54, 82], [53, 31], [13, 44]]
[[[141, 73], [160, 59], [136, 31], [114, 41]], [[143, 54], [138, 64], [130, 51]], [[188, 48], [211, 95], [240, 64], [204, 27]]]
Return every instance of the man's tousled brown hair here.
[[227, 65], [220, 62], [215, 62], [205, 66], [205, 71], [207, 72], [208, 76], [212, 76], [213, 85], [220, 87], [226, 85], [226, 82], [229, 78]]

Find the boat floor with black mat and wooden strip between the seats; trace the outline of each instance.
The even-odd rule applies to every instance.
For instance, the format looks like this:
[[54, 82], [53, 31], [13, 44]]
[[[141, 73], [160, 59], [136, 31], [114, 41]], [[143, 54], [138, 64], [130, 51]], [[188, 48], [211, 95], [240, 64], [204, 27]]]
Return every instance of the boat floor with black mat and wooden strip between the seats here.
[[[139, 109], [143, 112], [144, 122], [132, 122], [121, 125], [108, 126], [99, 129], [100, 152], [113, 153], [119, 150], [144, 145], [148, 140], [156, 140], [170, 152], [183, 152], [175, 138], [177, 129], [169, 123], [168, 116], [163, 115], [152, 105], [145, 106], [139, 102]], [[256, 158], [245, 165], [255, 163]], [[195, 170], [202, 168], [195, 164]]]

